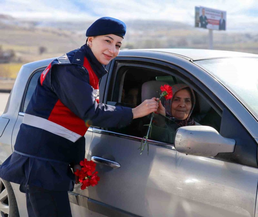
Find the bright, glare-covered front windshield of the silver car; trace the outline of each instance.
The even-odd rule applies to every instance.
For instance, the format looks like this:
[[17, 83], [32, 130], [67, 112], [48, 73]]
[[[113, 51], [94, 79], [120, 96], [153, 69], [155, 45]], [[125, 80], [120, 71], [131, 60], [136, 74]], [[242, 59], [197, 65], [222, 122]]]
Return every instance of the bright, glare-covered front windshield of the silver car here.
[[258, 119], [258, 58], [206, 59], [195, 63], [224, 84]]

